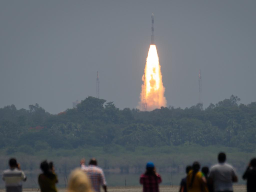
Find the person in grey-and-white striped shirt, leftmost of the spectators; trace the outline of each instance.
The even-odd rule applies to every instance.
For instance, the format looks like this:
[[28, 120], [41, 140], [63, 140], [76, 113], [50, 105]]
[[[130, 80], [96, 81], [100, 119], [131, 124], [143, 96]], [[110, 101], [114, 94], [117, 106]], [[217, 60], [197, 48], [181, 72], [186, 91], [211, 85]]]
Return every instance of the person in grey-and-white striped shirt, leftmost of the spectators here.
[[6, 192], [22, 192], [22, 181], [26, 181], [27, 177], [22, 170], [20, 164], [15, 158], [9, 160], [10, 168], [4, 170], [2, 179], [5, 181]]

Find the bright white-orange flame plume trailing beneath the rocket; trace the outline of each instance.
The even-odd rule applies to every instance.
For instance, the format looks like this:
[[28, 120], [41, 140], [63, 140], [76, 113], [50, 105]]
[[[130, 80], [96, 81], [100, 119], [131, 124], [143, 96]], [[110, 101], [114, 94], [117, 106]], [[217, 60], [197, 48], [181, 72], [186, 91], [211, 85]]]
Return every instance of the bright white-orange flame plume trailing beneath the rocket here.
[[166, 106], [165, 88], [162, 82], [161, 66], [156, 45], [150, 45], [141, 86], [141, 101], [138, 108], [143, 111], [154, 110]]

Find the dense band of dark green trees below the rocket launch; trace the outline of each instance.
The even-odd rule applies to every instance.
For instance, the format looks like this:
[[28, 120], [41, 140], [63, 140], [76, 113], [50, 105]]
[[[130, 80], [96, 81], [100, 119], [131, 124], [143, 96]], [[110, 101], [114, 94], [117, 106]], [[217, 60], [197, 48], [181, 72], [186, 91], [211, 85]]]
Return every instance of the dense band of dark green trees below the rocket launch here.
[[[256, 146], [256, 102], [240, 104], [230, 99], [190, 108], [165, 108], [150, 112], [125, 108], [113, 102], [88, 97], [77, 108], [58, 115], [45, 112], [38, 104], [29, 110], [14, 105], [0, 109], [0, 148], [8, 154], [29, 154], [51, 148], [77, 148], [84, 145], [116, 145], [134, 151], [137, 146], [222, 145], [253, 151]], [[113, 151], [112, 150], [112, 151]]]

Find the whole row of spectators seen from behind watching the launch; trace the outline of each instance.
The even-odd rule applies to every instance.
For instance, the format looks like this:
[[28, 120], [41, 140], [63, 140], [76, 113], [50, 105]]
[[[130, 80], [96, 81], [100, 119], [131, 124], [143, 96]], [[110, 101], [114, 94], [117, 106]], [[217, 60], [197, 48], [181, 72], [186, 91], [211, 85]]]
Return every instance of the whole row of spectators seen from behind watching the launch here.
[[[107, 192], [107, 183], [103, 169], [98, 166], [97, 160], [92, 158], [89, 165], [85, 159], [80, 161], [81, 167], [71, 172], [68, 180], [68, 192], [100, 192], [101, 188]], [[42, 173], [38, 176], [38, 184], [41, 192], [57, 192], [58, 183], [52, 162], [43, 161], [40, 164]], [[208, 167], [202, 167], [195, 161], [186, 167], [187, 176], [180, 182], [179, 192], [233, 192], [233, 183], [238, 182], [238, 176], [234, 167], [226, 163], [226, 154], [218, 154], [218, 163]], [[243, 179], [247, 180], [247, 192], [256, 191], [256, 158], [253, 158]], [[20, 164], [15, 158], [9, 160], [9, 169], [4, 170], [2, 179], [5, 181], [6, 192], [22, 192], [22, 182], [27, 177], [20, 169]], [[161, 176], [157, 173], [153, 162], [146, 164], [145, 173], [140, 176], [140, 184], [143, 192], [159, 192]]]

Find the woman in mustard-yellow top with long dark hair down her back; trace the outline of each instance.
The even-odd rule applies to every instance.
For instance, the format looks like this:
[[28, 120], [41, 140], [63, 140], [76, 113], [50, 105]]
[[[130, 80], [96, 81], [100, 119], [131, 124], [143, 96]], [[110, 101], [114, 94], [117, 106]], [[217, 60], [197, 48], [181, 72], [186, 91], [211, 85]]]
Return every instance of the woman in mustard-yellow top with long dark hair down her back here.
[[192, 170], [189, 171], [187, 176], [187, 192], [209, 192], [206, 185], [206, 178], [199, 170], [200, 164], [194, 162]]

